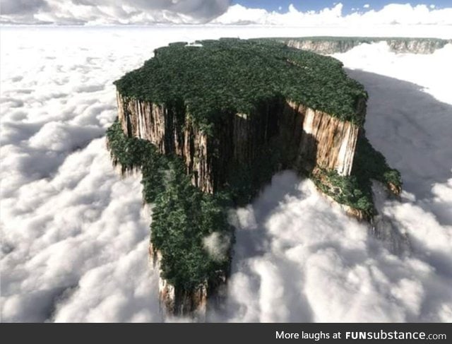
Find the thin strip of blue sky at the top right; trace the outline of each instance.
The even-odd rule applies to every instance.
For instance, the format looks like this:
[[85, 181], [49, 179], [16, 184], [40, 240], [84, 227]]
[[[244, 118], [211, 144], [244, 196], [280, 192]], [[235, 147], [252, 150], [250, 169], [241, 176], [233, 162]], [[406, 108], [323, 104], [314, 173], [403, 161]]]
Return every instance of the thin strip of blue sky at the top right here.
[[370, 8], [379, 10], [386, 4], [434, 4], [437, 8], [451, 7], [452, 0], [421, 0], [421, 1], [396, 1], [396, 0], [343, 0], [343, 1], [328, 1], [328, 0], [234, 0], [234, 4], [241, 4], [246, 7], [266, 8], [270, 11], [278, 11], [281, 6], [283, 12], [287, 11], [290, 4], [294, 4], [299, 11], [319, 11], [322, 8], [332, 7], [336, 2], [341, 2], [344, 5], [344, 12], [349, 13], [352, 8], [362, 8], [364, 4], [369, 4]]

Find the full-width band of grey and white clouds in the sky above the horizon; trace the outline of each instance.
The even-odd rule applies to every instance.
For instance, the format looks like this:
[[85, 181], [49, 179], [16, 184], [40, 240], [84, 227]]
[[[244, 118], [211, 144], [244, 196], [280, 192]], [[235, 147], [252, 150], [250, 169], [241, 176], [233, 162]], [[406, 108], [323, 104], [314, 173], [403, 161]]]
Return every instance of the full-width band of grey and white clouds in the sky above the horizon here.
[[452, 24], [452, 8], [388, 4], [374, 11], [369, 4], [343, 14], [343, 4], [319, 12], [298, 11], [290, 5], [285, 13], [246, 8], [230, 0], [1, 0], [2, 23], [25, 24], [257, 24], [283, 26]]

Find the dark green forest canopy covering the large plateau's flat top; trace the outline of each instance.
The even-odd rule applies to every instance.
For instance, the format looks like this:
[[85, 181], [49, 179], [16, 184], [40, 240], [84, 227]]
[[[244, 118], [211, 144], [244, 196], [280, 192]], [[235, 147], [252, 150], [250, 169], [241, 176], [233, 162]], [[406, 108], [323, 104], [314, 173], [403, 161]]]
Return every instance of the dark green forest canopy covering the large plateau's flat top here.
[[155, 50], [144, 66], [116, 81], [119, 93], [157, 104], [183, 102], [198, 124], [228, 112], [258, 114], [283, 97], [361, 125], [357, 102], [367, 98], [332, 57], [270, 40], [204, 40]]

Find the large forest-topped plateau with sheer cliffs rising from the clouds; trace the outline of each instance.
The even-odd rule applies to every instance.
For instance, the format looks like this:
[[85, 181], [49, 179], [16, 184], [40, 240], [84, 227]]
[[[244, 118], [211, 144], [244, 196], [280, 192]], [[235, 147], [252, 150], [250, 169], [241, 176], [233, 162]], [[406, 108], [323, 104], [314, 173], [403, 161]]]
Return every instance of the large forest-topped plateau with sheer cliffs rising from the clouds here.
[[348, 213], [375, 213], [371, 179], [400, 174], [363, 129], [367, 93], [331, 57], [272, 40], [176, 43], [116, 82], [107, 131], [114, 165], [141, 169], [154, 203], [150, 256], [167, 316], [206, 317], [232, 258], [227, 208], [249, 203], [275, 172], [311, 177]]

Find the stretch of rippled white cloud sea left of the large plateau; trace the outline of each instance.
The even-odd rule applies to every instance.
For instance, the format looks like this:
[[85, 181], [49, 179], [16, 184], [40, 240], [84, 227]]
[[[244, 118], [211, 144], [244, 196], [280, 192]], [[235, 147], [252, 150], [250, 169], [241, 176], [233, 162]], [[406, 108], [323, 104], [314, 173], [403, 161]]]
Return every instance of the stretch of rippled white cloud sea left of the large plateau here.
[[141, 184], [99, 138], [143, 60], [99, 35], [1, 30], [2, 321], [160, 320]]

